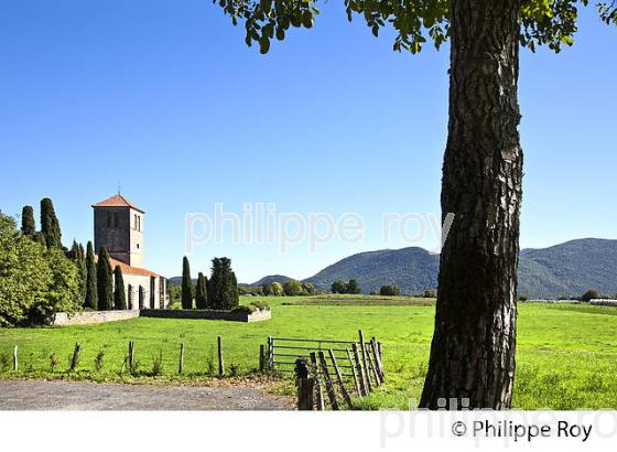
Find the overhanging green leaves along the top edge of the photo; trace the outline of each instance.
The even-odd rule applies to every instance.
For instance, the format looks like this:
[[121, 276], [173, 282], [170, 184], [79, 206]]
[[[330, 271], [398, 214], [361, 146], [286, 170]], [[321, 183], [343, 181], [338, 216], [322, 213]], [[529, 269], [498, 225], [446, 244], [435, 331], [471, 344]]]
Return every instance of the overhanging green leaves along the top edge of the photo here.
[[[450, 37], [450, 0], [344, 0], [347, 19], [360, 15], [375, 36], [380, 29], [391, 25], [397, 32], [393, 50], [418, 53], [426, 42], [436, 49]], [[318, 15], [317, 0], [214, 0], [234, 25], [243, 23], [245, 41], [259, 44], [268, 53], [274, 37], [284, 40], [290, 28], [311, 29]], [[560, 52], [572, 45], [577, 31], [577, 6], [587, 7], [588, 0], [520, 1], [520, 44], [535, 51], [548, 45]], [[617, 24], [617, 2], [594, 2], [603, 22]]]

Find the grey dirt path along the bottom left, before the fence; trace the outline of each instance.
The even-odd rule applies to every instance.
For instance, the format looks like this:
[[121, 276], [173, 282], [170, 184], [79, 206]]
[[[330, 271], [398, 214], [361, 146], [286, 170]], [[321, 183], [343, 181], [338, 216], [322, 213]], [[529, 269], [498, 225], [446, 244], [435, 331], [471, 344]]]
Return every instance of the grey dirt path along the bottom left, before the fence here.
[[290, 399], [260, 386], [153, 386], [0, 381], [0, 410], [289, 410]]

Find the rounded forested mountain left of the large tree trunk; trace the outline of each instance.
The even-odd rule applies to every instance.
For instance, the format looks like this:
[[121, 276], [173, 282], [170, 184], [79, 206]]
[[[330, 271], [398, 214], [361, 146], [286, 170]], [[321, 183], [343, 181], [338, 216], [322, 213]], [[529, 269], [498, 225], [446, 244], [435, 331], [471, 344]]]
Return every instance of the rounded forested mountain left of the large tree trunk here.
[[383, 249], [345, 258], [306, 279], [318, 290], [328, 290], [333, 281], [357, 279], [362, 292], [379, 291], [396, 284], [402, 293], [419, 293], [437, 287], [439, 255], [422, 248]]

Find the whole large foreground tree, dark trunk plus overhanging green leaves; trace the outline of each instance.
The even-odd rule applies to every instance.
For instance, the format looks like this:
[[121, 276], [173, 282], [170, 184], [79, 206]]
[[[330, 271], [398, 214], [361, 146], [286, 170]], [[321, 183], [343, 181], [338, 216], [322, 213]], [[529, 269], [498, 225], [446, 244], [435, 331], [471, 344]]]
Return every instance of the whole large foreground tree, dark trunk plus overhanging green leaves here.
[[[290, 26], [312, 28], [317, 0], [215, 0], [261, 53]], [[518, 126], [519, 47], [572, 45], [577, 6], [588, 0], [345, 0], [394, 51], [427, 40], [450, 46], [450, 120], [442, 220], [454, 223], [441, 252], [435, 330], [420, 406], [466, 399], [470, 408], [511, 406], [516, 369], [517, 268], [522, 200]], [[617, 23], [617, 2], [596, 3]], [[461, 401], [461, 400], [459, 400]], [[461, 406], [461, 403], [459, 403]]]

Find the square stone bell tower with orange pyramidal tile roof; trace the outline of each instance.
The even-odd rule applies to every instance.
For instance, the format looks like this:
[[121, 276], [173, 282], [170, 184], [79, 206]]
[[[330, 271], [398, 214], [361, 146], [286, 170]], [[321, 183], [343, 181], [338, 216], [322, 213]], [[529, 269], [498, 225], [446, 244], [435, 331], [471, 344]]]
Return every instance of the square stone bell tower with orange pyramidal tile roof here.
[[121, 194], [94, 204], [95, 252], [106, 247], [109, 256], [128, 266], [143, 268], [145, 213]]

